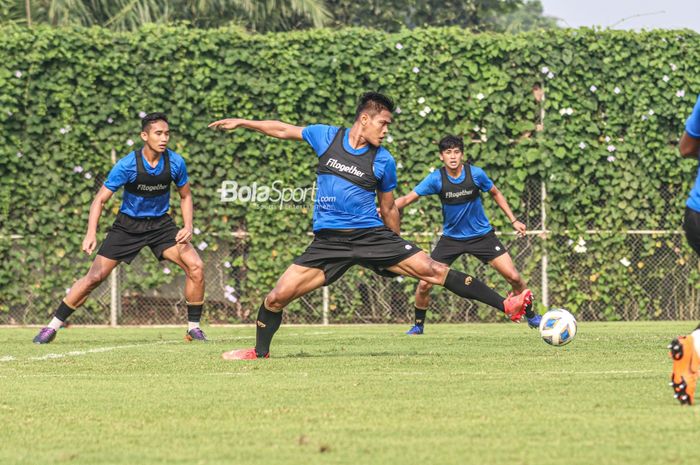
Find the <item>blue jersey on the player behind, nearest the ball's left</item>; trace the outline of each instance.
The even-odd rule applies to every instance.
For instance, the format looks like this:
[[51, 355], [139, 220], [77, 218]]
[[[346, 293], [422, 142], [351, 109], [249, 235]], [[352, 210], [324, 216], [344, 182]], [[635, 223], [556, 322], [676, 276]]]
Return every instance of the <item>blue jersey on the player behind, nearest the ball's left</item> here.
[[[474, 184], [482, 192], [488, 192], [493, 187], [493, 181], [489, 179], [484, 170], [470, 165]], [[466, 177], [464, 169], [457, 178], [447, 176], [451, 182], [461, 183]], [[425, 177], [413, 191], [420, 195], [437, 195], [442, 191], [442, 176], [440, 170], [435, 170]], [[461, 205], [442, 206], [442, 234], [451, 239], [472, 239], [483, 236], [493, 229], [486, 217], [481, 197]]]

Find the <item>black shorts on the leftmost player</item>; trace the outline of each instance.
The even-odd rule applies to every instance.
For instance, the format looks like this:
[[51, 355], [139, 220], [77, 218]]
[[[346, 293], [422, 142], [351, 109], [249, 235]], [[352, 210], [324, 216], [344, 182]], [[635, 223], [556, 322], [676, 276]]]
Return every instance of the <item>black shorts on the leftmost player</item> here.
[[120, 262], [131, 263], [141, 249], [148, 246], [158, 260], [163, 252], [177, 244], [178, 228], [170, 215], [156, 218], [134, 218], [119, 213], [107, 232], [97, 255]]

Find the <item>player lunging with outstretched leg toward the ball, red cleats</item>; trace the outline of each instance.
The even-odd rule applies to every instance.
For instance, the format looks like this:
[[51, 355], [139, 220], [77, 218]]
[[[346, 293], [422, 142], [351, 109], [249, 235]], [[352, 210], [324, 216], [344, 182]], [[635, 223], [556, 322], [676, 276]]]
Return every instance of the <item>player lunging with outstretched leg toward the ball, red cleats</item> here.
[[[226, 352], [225, 359], [268, 357], [270, 342], [282, 322], [282, 309], [304, 294], [333, 283], [353, 265], [385, 276], [402, 274], [445, 286], [461, 297], [499, 309], [512, 320], [519, 320], [525, 313], [531, 293], [504, 299], [486, 284], [432, 260], [399, 236], [399, 212], [392, 193], [396, 164], [389, 151], [381, 147], [393, 111], [391, 99], [368, 92], [360, 98], [350, 128], [321, 124], [299, 127], [239, 118], [209, 125], [305, 141], [318, 156], [314, 240], [260, 305], [255, 347]], [[383, 221], [377, 214], [377, 201]]]

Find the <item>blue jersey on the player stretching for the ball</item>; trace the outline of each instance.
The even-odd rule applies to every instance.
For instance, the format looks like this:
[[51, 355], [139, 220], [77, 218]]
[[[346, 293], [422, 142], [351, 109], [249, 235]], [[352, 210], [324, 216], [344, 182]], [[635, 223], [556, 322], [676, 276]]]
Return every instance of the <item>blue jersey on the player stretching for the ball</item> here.
[[[338, 132], [335, 126], [314, 124], [302, 131], [304, 140], [314, 149], [317, 156], [324, 154]], [[363, 155], [369, 146], [354, 149], [350, 146], [345, 132], [343, 148], [351, 155]], [[389, 192], [396, 188], [396, 162], [388, 150], [379, 147], [374, 159], [374, 175], [378, 180], [377, 189]], [[313, 230], [321, 229], [362, 229], [383, 226], [377, 214], [376, 192], [370, 192], [332, 174], [319, 174], [316, 177], [316, 199], [314, 204]]]

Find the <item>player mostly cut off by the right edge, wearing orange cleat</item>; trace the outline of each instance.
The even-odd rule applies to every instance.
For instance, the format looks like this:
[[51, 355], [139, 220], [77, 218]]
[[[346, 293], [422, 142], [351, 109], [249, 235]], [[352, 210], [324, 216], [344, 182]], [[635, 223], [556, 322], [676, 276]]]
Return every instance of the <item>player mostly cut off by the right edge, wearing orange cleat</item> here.
[[[681, 137], [680, 152], [683, 157], [698, 158], [700, 154], [700, 96], [690, 118], [685, 123]], [[688, 244], [700, 255], [700, 168], [695, 185], [685, 203], [683, 229]], [[695, 403], [695, 385], [700, 368], [700, 325], [688, 336], [679, 336], [668, 346], [673, 359], [671, 386], [674, 397], [681, 405]]]

